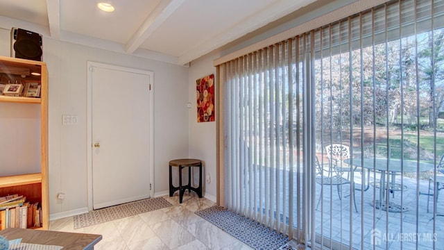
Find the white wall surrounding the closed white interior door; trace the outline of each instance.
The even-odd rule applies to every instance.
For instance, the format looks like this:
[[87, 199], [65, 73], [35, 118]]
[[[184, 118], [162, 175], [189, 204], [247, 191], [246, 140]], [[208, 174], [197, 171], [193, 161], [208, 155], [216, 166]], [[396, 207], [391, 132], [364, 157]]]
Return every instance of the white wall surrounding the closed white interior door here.
[[[31, 28], [21, 26], [33, 31]], [[0, 24], [0, 55], [10, 56], [10, 27]], [[49, 201], [51, 219], [87, 208], [87, 61], [154, 72], [154, 192], [167, 194], [168, 162], [189, 154], [188, 68], [43, 38], [49, 71]], [[124, 84], [124, 83], [123, 83]], [[125, 100], [112, 100], [125, 101]], [[62, 115], [78, 124], [62, 125]], [[65, 200], [56, 199], [58, 192]]]

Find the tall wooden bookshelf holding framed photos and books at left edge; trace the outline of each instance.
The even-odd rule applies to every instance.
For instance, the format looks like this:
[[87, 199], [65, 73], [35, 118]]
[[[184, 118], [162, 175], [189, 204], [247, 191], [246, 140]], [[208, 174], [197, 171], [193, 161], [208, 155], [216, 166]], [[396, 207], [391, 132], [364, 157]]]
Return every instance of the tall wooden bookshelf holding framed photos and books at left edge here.
[[[37, 73], [37, 74], [34, 74]], [[13, 103], [22, 105], [38, 104], [40, 106], [40, 144], [35, 145], [40, 150], [40, 162], [33, 163], [39, 167], [40, 172], [22, 173], [13, 176], [2, 176], [0, 174], [0, 196], [19, 194], [26, 197], [30, 202], [38, 202], [42, 207], [42, 227], [37, 229], [47, 230], [49, 228], [49, 185], [48, 185], [48, 75], [46, 63], [19, 58], [0, 56], [0, 81], [4, 78], [8, 81], [33, 81], [40, 83], [40, 98], [36, 97], [8, 97], [0, 95], [1, 103]], [[4, 84], [4, 82], [2, 82]], [[10, 104], [8, 104], [10, 105]], [[18, 106], [17, 106], [18, 107]], [[29, 106], [31, 107], [31, 106]], [[26, 121], [27, 117], [23, 117]], [[0, 117], [8, 119], [8, 117]], [[1, 122], [1, 121], [0, 121]], [[3, 147], [8, 147], [12, 142], [0, 140]], [[38, 161], [38, 160], [37, 160]], [[11, 162], [11, 161], [9, 161]], [[3, 165], [1, 166], [3, 168]], [[8, 172], [19, 171], [8, 166], [4, 169]], [[37, 172], [37, 173], [36, 173]]]

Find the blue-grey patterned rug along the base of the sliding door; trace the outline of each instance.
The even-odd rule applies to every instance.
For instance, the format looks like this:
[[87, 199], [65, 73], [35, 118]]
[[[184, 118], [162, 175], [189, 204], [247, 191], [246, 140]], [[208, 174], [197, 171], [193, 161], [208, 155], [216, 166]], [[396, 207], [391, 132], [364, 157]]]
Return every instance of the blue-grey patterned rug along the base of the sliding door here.
[[196, 215], [253, 249], [279, 249], [289, 241], [286, 235], [276, 233], [253, 219], [238, 215], [221, 206], [196, 211]]

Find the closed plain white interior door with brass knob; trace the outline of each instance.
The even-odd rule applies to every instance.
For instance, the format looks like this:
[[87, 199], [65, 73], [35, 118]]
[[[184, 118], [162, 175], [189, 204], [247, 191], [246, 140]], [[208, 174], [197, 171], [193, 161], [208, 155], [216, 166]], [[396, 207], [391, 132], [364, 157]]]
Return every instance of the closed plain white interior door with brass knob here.
[[94, 209], [146, 199], [151, 194], [153, 75], [109, 66], [89, 67]]

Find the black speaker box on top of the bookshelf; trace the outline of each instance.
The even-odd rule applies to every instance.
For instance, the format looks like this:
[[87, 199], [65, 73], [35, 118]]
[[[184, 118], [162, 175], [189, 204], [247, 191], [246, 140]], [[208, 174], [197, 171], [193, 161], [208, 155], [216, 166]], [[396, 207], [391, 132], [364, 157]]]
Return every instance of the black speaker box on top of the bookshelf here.
[[42, 60], [42, 35], [22, 28], [11, 29], [11, 57]]

